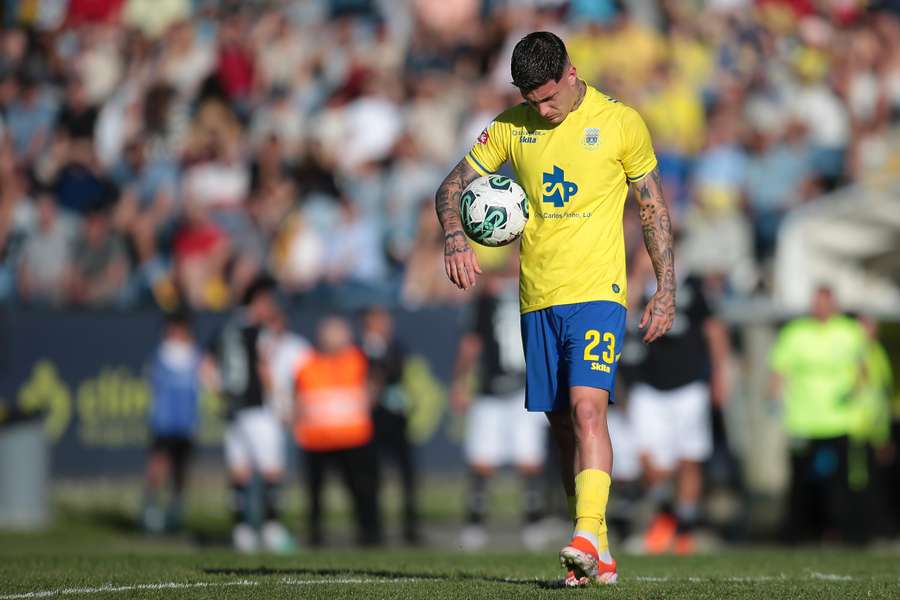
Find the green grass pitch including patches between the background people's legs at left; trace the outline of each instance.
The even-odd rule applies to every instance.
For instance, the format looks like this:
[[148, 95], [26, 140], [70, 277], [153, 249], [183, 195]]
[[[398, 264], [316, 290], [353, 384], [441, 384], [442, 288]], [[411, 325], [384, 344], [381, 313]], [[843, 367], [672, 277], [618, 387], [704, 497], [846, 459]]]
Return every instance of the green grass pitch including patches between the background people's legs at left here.
[[[900, 600], [900, 547], [880, 550], [728, 549], [688, 558], [618, 554], [620, 583], [565, 589], [553, 547], [516, 551], [515, 479], [497, 482], [492, 508], [496, 546], [505, 551], [454, 551], [462, 521], [463, 480], [430, 480], [422, 488], [426, 538], [433, 546], [396, 544], [360, 551], [346, 498], [326, 491], [335, 547], [301, 548], [292, 556], [239, 556], [226, 547], [224, 480], [195, 480], [188, 497], [191, 534], [150, 538], [136, 532], [140, 481], [57, 484], [56, 520], [40, 534], [0, 532], [0, 600], [159, 599], [500, 599], [619, 598]], [[287, 523], [302, 522], [304, 503], [287, 490]], [[397, 486], [386, 489], [387, 526], [398, 530]], [[502, 501], [499, 501], [502, 500]], [[392, 516], [393, 515], [393, 516]], [[564, 532], [563, 532], [564, 533]], [[501, 539], [503, 538], [503, 539]], [[614, 549], [615, 550], [615, 549]]]

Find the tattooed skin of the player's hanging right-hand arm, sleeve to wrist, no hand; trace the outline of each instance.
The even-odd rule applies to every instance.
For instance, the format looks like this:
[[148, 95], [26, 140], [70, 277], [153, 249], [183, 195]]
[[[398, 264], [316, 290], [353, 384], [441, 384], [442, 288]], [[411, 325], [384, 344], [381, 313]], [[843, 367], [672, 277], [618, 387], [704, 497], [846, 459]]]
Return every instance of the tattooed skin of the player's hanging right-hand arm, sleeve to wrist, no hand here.
[[665, 306], [675, 304], [675, 255], [672, 248], [672, 222], [662, 194], [659, 169], [632, 184], [640, 207], [644, 245], [656, 272], [657, 292], [665, 298]]

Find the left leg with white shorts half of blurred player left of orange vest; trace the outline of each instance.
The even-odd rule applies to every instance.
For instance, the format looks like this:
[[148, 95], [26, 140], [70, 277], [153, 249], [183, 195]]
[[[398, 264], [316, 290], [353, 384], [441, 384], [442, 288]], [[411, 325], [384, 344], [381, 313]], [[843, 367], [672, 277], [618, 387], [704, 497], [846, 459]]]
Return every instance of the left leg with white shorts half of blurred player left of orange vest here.
[[245, 412], [238, 411], [225, 430], [225, 465], [231, 486], [231, 514], [234, 522], [232, 543], [239, 552], [255, 552], [259, 547], [259, 539], [250, 522], [250, 481], [253, 469], [245, 431]]

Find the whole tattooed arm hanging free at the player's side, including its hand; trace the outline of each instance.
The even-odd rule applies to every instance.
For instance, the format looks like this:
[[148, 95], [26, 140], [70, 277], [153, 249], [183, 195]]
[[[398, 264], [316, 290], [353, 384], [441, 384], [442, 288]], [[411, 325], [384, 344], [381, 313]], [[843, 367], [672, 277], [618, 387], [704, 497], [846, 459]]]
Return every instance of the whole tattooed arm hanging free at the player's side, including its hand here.
[[656, 293], [641, 317], [640, 328], [647, 328], [644, 342], [659, 339], [672, 328], [675, 319], [675, 253], [672, 248], [672, 222], [662, 195], [659, 169], [632, 182], [631, 189], [640, 207], [644, 245], [656, 272]]

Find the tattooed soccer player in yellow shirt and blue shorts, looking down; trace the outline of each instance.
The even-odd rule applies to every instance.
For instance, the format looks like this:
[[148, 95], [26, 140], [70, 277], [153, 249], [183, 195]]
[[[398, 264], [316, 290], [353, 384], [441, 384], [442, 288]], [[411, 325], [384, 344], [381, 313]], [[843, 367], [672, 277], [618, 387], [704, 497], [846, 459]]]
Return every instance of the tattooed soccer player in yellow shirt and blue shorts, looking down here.
[[513, 50], [512, 78], [525, 102], [495, 118], [438, 188], [445, 267], [461, 289], [475, 285], [481, 268], [462, 229], [460, 194], [509, 161], [531, 214], [519, 279], [525, 406], [547, 414], [575, 520], [560, 562], [567, 585], [615, 583], [605, 519], [612, 468], [606, 409], [625, 328], [629, 186], [657, 279], [640, 320], [645, 343], [664, 335], [675, 313], [669, 213], [643, 120], [579, 79], [562, 40], [548, 32], [525, 36]]

